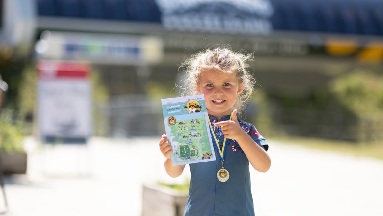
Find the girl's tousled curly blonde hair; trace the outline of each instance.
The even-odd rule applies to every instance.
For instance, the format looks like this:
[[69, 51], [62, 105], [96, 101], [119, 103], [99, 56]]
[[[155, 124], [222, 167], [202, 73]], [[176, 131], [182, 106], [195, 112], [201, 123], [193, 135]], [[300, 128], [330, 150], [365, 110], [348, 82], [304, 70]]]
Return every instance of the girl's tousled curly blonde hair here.
[[180, 71], [185, 72], [185, 79], [181, 80], [181, 95], [196, 95], [197, 91], [194, 84], [199, 83], [200, 73], [205, 69], [216, 69], [224, 73], [236, 73], [240, 84], [244, 90], [237, 96], [233, 109], [238, 109], [241, 113], [246, 103], [250, 100], [255, 79], [248, 72], [248, 61], [253, 60], [253, 54], [243, 54], [234, 52], [225, 47], [206, 49], [193, 54], [179, 67]]

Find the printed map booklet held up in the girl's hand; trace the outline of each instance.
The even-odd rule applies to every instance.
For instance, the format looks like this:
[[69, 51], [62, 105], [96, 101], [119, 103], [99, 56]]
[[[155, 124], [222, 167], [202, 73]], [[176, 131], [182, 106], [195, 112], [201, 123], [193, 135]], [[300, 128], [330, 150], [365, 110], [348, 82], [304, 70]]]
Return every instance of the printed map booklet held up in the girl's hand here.
[[204, 95], [161, 99], [173, 165], [215, 161]]

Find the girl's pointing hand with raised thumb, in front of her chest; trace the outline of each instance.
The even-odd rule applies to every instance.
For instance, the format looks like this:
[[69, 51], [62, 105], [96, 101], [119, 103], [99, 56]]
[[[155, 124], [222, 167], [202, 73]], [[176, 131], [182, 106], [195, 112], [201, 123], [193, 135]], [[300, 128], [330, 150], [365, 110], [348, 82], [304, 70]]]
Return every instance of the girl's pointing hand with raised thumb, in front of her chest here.
[[241, 135], [246, 133], [240, 126], [237, 119], [237, 109], [234, 109], [232, 114], [232, 120], [220, 121], [214, 124], [214, 127], [221, 126], [221, 130], [226, 138], [238, 140]]

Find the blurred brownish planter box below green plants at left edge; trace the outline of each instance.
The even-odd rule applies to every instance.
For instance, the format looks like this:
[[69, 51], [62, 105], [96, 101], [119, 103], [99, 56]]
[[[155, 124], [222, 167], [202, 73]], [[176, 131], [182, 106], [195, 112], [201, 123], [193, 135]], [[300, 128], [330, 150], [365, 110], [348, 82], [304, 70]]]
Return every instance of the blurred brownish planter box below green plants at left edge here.
[[0, 169], [4, 174], [25, 174], [27, 171], [27, 154], [0, 152]]

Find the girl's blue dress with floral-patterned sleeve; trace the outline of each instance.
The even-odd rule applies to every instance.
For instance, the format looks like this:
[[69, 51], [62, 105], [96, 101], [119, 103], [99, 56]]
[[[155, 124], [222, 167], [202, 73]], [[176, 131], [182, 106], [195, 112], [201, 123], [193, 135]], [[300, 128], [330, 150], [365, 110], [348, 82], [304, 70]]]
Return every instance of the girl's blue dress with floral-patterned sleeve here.
[[[214, 116], [209, 115], [209, 118], [212, 125], [218, 121]], [[221, 120], [229, 118], [228, 115]], [[252, 124], [239, 118], [238, 121], [258, 145], [268, 149], [265, 139]], [[214, 126], [213, 130], [222, 148], [222, 131], [220, 127]], [[214, 142], [213, 138], [213, 145]], [[222, 168], [222, 162], [218, 149], [215, 146], [214, 149], [216, 161], [189, 164], [191, 179], [184, 216], [254, 216], [249, 162], [245, 153], [236, 141], [226, 140], [224, 167], [229, 171], [230, 178], [226, 182], [220, 182], [217, 179], [217, 171]]]

